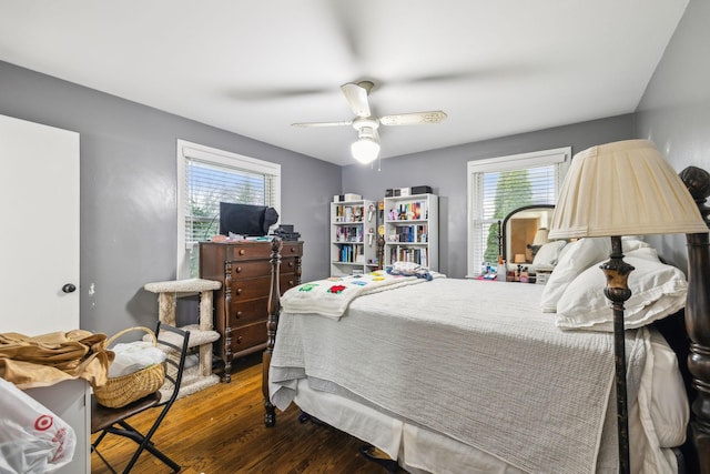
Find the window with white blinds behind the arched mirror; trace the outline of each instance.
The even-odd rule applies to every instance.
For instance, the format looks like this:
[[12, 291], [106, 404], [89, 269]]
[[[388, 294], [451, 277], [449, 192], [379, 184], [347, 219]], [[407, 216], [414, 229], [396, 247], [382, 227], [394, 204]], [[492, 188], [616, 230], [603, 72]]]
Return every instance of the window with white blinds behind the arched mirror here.
[[498, 262], [498, 221], [528, 204], [555, 204], [571, 148], [468, 162], [468, 272]]

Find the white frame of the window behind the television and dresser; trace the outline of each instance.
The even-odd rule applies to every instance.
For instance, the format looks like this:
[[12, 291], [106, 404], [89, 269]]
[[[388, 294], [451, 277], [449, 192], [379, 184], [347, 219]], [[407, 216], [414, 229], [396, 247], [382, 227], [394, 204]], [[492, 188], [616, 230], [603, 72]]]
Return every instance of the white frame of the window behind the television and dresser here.
[[240, 169], [250, 173], [266, 174], [273, 180], [272, 196], [274, 202], [267, 204], [281, 214], [281, 164], [256, 158], [245, 157], [243, 154], [206, 147], [199, 143], [178, 140], [176, 145], [176, 163], [178, 163], [178, 259], [176, 259], [176, 278], [187, 279], [190, 275], [190, 253], [195, 250], [196, 245], [187, 248], [185, 234], [186, 218], [186, 200], [189, 199], [187, 190], [187, 161], [199, 160], [213, 167], [224, 167], [230, 169]]

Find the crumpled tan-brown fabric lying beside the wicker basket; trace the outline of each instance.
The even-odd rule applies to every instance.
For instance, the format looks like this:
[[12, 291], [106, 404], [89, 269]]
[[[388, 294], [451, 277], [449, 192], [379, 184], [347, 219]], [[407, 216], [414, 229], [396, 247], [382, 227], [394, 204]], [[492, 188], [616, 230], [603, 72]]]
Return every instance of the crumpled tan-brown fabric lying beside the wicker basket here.
[[104, 346], [105, 339], [84, 330], [37, 336], [0, 333], [0, 377], [22, 390], [74, 379], [94, 387], [105, 385], [114, 359]]

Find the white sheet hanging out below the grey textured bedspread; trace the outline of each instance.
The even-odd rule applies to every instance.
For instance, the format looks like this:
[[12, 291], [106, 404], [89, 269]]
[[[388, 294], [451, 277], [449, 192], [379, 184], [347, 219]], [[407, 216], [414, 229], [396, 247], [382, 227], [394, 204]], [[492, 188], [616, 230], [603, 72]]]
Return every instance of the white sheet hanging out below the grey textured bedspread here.
[[[678, 372], [676, 354], [663, 337], [651, 333], [650, 356], [652, 371], [642, 377], [639, 396], [651, 397], [650, 411], [640, 410], [636, 400], [629, 404], [630, 458], [633, 473], [677, 472], [676, 455], [671, 447], [686, 438], [689, 407], [682, 379]], [[313, 390], [306, 379], [297, 384], [295, 404], [316, 418], [337, 427], [366, 443], [377, 446], [410, 473], [493, 473], [519, 474], [524, 471], [499, 458], [397, 417], [328, 392]], [[646, 427], [643, 426], [646, 424]], [[659, 464], [649, 455], [643, 430], [652, 428], [660, 441], [665, 462]], [[609, 473], [599, 468], [598, 473]]]

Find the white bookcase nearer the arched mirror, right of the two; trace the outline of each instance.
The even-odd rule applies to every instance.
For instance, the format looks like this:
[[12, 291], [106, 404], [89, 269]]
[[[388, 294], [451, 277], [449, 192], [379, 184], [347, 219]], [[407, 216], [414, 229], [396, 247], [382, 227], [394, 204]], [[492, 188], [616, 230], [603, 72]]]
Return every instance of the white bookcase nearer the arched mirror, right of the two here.
[[385, 268], [414, 262], [438, 271], [439, 201], [436, 194], [385, 198]]

